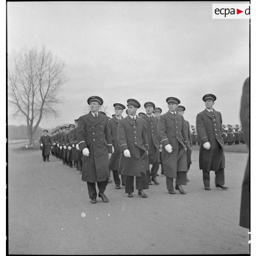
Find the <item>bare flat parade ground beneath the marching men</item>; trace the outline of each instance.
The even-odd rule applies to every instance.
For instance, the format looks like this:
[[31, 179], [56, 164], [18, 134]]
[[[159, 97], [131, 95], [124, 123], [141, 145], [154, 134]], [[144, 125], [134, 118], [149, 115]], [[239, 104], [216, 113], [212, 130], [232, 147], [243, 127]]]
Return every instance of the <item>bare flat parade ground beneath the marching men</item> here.
[[[184, 186], [187, 195], [167, 193], [157, 177], [141, 198], [128, 198], [108, 184], [108, 203], [89, 201], [86, 183], [75, 168], [40, 150], [9, 147], [9, 254], [247, 254], [249, 230], [239, 226], [245, 153], [225, 153], [228, 190], [203, 189], [198, 150]], [[161, 171], [159, 170], [159, 173]], [[111, 179], [112, 174], [111, 174]]]

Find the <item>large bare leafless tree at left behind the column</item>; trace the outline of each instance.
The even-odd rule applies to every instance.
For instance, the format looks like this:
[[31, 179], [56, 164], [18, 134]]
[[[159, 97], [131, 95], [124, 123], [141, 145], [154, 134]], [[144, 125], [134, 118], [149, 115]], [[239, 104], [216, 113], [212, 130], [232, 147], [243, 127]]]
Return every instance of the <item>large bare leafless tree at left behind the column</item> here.
[[37, 47], [8, 56], [8, 101], [14, 116], [26, 117], [29, 144], [43, 116], [57, 116], [61, 85], [67, 81], [65, 63], [50, 50]]

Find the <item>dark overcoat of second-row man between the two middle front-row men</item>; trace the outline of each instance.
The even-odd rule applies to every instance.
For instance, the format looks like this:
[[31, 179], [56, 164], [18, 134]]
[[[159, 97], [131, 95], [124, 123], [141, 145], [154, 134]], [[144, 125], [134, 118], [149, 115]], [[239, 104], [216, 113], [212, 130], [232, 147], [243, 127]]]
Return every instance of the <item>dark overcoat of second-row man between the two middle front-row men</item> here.
[[160, 143], [157, 137], [157, 124], [158, 119], [156, 117], [149, 117], [145, 115], [141, 117], [146, 122], [146, 135], [149, 143], [149, 163], [159, 163], [160, 162]]

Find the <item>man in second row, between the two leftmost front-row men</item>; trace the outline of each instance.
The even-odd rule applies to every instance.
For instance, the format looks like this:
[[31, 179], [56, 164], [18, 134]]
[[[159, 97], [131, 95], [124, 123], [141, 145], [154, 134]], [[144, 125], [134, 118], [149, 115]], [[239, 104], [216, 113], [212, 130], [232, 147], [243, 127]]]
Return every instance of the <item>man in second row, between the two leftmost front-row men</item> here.
[[[113, 150], [112, 156], [109, 159], [109, 169], [112, 170], [114, 182], [116, 185], [116, 189], [120, 189], [120, 178], [118, 175], [119, 161], [121, 156], [121, 151], [119, 149], [118, 141], [117, 141], [117, 128], [120, 120], [123, 119], [122, 112], [125, 109], [125, 106], [121, 103], [115, 103], [115, 115], [109, 120], [110, 125], [110, 133], [112, 138]], [[125, 185], [126, 176], [121, 175], [122, 185]]]

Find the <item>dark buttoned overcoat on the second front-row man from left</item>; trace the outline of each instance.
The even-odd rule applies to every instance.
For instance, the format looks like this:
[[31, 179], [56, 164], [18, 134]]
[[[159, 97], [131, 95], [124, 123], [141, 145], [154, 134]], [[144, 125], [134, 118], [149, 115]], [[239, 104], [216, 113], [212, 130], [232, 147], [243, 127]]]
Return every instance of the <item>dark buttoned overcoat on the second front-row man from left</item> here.
[[[117, 140], [121, 151], [118, 173], [128, 176], [141, 177], [141, 173], [149, 170], [149, 150], [146, 136], [146, 122], [136, 116], [135, 122], [127, 116], [119, 121]], [[125, 157], [124, 150], [129, 150], [131, 157]], [[140, 156], [140, 150], [144, 153]]]

